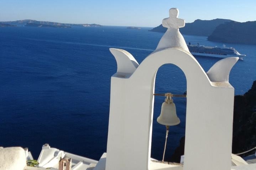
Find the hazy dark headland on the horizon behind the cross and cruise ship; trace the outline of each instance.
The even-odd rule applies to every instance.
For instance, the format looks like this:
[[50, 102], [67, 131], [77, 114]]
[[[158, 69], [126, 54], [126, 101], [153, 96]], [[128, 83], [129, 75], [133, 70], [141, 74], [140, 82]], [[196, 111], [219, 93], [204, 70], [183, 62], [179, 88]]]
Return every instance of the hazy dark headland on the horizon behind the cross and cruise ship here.
[[[149, 31], [166, 32], [162, 24]], [[179, 29], [182, 34], [207, 36], [209, 41], [256, 44], [256, 21], [236, 22], [226, 19], [195, 20]]]

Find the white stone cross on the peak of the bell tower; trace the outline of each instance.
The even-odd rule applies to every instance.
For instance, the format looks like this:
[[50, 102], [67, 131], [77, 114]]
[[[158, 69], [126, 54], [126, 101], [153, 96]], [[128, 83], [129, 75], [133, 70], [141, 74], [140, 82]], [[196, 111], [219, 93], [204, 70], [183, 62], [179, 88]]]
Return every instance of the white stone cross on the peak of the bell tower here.
[[162, 21], [163, 27], [166, 28], [182, 28], [185, 26], [185, 20], [177, 18], [179, 15], [179, 10], [177, 8], [171, 8], [169, 10], [169, 17], [164, 18]]

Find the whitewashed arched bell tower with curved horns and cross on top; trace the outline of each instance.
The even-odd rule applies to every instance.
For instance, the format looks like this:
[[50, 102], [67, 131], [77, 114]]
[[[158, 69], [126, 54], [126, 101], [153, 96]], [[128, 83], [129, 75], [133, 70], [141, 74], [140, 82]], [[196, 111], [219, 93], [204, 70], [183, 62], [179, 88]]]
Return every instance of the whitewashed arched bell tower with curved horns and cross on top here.
[[[230, 170], [234, 88], [229, 72], [238, 60], [218, 61], [206, 73], [189, 53], [179, 32], [185, 21], [178, 9], [163, 20], [167, 32], [156, 50], [139, 65], [122, 49], [110, 49], [117, 62], [111, 77], [106, 170]], [[151, 155], [155, 76], [174, 64], [187, 79], [184, 166], [153, 163]]]

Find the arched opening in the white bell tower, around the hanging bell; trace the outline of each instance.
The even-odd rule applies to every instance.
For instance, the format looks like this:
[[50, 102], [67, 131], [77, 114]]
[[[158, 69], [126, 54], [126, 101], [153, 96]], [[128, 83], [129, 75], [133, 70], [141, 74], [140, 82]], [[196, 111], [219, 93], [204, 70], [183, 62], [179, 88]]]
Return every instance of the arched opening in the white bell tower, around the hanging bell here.
[[[164, 64], [158, 69], [155, 80], [155, 94], [172, 93], [183, 95], [186, 91], [187, 80], [181, 68], [174, 64]], [[157, 122], [157, 117], [160, 115], [164, 99], [164, 96], [155, 95], [151, 158], [157, 160], [162, 160], [163, 158], [166, 137], [166, 126]], [[173, 97], [173, 102], [176, 105], [177, 116], [181, 122], [178, 125], [169, 127], [164, 161], [180, 163], [180, 156], [184, 154], [184, 143], [180, 146], [180, 140], [185, 136], [187, 100], [184, 97]], [[184, 140], [184, 138], [182, 140]], [[177, 148], [178, 150], [174, 155], [174, 151]]]

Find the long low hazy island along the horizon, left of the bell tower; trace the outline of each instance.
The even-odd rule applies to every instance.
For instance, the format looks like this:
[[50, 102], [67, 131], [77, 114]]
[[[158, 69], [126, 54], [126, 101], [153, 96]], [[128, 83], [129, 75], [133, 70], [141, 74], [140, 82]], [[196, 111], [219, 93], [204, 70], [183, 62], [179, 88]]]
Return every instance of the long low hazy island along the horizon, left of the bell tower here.
[[70, 24], [70, 23], [59, 23], [59, 22], [49, 22], [49, 21], [36, 21], [36, 20], [5, 21], [5, 22], [0, 22], [0, 27], [1, 27], [1, 25], [5, 25], [4, 27], [8, 27], [8, 25], [28, 26], [28, 27], [56, 27], [56, 28], [102, 27], [99, 24]]

